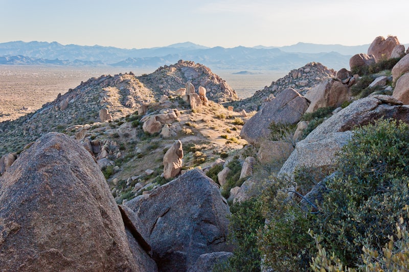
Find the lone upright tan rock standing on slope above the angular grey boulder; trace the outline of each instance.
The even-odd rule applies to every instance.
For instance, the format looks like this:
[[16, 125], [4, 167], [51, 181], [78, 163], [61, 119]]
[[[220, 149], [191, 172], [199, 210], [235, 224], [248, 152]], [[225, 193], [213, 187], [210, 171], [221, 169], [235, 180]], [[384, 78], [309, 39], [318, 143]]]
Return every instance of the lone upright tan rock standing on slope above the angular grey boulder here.
[[174, 178], [179, 175], [183, 164], [183, 149], [181, 141], [177, 140], [163, 157], [163, 174], [165, 179]]

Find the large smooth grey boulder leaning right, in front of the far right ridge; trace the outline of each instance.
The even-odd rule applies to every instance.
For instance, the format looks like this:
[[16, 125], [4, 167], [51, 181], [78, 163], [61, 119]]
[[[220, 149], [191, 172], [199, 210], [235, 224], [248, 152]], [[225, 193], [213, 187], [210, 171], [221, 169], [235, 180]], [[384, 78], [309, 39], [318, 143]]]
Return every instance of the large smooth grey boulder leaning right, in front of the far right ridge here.
[[240, 137], [255, 144], [268, 137], [271, 122], [297, 123], [307, 108], [305, 97], [294, 89], [285, 89], [244, 124]]

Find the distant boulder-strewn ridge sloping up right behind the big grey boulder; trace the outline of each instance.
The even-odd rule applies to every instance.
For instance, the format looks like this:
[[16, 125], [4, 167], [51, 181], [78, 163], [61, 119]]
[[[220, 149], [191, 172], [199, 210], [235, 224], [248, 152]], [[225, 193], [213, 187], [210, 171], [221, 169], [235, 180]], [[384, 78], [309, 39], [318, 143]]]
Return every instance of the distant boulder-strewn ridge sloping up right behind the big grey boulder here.
[[231, 103], [231, 105], [247, 111], [258, 110], [263, 103], [271, 101], [275, 95], [287, 88], [293, 88], [304, 95], [316, 85], [333, 77], [335, 77], [333, 69], [327, 68], [321, 63], [311, 62], [301, 68], [291, 70], [287, 76], [273, 81], [270, 86], [256, 91], [253, 96]]

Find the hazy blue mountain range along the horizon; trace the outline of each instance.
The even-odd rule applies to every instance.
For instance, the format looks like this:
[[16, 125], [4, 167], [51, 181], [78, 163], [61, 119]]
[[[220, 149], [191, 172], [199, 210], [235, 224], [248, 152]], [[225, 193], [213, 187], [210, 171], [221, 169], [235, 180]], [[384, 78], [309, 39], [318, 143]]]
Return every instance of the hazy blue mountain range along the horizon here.
[[283, 47], [206, 47], [191, 42], [164, 47], [123, 49], [110, 46], [62, 45], [58, 42], [0, 43], [0, 64], [89, 65], [158, 67], [179, 59], [199, 62], [212, 69], [287, 71], [308, 62], [321, 62], [329, 68], [349, 68], [352, 55], [366, 53], [369, 44], [344, 46], [297, 43]]

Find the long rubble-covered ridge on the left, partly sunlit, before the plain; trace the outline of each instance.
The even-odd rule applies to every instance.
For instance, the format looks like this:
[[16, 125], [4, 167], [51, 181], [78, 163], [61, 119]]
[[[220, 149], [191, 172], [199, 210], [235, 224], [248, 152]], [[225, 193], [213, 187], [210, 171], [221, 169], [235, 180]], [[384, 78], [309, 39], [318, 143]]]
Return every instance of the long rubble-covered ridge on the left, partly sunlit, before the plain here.
[[192, 83], [207, 89], [208, 100], [238, 100], [236, 92], [219, 76], [201, 64], [179, 61], [158, 68], [150, 75], [135, 77], [132, 72], [92, 78], [45, 104], [32, 114], [0, 123], [0, 154], [17, 152], [50, 131], [68, 131], [76, 125], [125, 117], [142, 105], [159, 102], [163, 95]]

